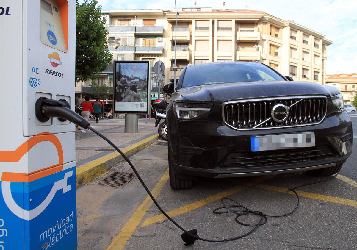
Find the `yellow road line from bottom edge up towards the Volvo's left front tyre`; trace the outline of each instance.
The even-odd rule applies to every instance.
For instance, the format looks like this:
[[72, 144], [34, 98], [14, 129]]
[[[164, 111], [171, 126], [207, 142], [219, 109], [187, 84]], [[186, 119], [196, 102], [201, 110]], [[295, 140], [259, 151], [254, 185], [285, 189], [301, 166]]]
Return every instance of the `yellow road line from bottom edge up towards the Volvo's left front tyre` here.
[[[154, 189], [152, 189], [151, 194], [156, 198], [159, 195], [161, 189], [164, 187], [166, 181], [169, 179], [169, 170], [167, 169], [165, 174], [162, 175], [161, 179], [155, 185]], [[134, 214], [130, 217], [130, 219], [125, 223], [123, 228], [120, 230], [119, 234], [113, 239], [112, 243], [106, 248], [120, 250], [123, 249], [126, 242], [130, 239], [131, 235], [134, 233], [136, 227], [139, 225], [142, 218], [146, 214], [147, 210], [149, 210], [152, 205], [152, 200], [148, 195], [146, 199], [141, 203], [141, 205], [136, 209]]]

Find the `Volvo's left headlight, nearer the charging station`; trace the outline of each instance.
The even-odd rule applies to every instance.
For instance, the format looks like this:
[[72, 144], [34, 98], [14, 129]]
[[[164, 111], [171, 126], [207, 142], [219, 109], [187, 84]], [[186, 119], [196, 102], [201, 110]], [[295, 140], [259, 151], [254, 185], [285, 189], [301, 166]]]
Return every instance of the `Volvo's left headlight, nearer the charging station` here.
[[211, 104], [198, 104], [198, 103], [175, 103], [174, 110], [177, 118], [189, 120], [210, 112]]

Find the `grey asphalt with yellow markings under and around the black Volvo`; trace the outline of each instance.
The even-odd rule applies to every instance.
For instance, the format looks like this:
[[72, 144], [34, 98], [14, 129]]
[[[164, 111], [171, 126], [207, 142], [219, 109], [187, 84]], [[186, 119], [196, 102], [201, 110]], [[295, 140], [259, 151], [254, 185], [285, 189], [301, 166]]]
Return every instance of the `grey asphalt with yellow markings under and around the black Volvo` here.
[[[296, 212], [268, 218], [265, 225], [245, 238], [224, 243], [196, 241], [185, 246], [182, 231], [165, 219], [150, 199], [145, 199], [147, 194], [136, 177], [115, 189], [96, 185], [104, 176], [77, 190], [78, 249], [357, 249], [357, 115], [352, 114], [351, 120], [355, 147], [339, 178], [301, 187]], [[198, 179], [191, 190], [172, 190], [167, 181], [165, 142], [157, 142], [131, 160], [162, 208], [185, 229], [196, 228], [199, 236], [208, 239], [231, 238], [252, 229], [237, 224], [233, 214], [213, 214], [222, 206], [222, 197], [266, 214], [285, 214], [297, 203], [296, 196], [286, 191], [288, 188], [326, 178], [294, 172]], [[113, 171], [131, 170], [122, 163]], [[248, 215], [241, 221], [253, 224], [259, 219]]]

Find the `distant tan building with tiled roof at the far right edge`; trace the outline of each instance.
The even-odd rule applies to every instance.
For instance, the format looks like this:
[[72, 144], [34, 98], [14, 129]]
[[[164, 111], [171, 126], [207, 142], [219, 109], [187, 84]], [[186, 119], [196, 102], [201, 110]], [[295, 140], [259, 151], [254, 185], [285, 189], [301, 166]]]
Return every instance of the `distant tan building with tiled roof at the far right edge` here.
[[357, 94], [357, 73], [326, 75], [326, 85], [340, 90], [343, 101], [345, 101], [346, 104], [352, 105], [353, 100], [355, 100], [355, 95]]

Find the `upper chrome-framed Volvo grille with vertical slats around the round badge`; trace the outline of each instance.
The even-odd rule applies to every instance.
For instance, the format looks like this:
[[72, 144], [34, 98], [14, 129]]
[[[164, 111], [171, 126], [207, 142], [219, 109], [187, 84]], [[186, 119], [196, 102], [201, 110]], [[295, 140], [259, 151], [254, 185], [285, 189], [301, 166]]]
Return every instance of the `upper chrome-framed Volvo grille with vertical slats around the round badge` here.
[[[290, 106], [287, 119], [278, 123], [271, 119], [276, 104]], [[325, 96], [297, 96], [223, 103], [224, 123], [237, 130], [273, 129], [279, 127], [306, 126], [322, 122], [327, 110]], [[270, 120], [268, 120], [270, 119]]]

